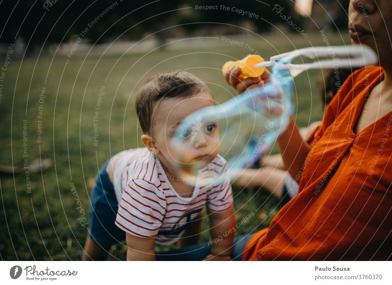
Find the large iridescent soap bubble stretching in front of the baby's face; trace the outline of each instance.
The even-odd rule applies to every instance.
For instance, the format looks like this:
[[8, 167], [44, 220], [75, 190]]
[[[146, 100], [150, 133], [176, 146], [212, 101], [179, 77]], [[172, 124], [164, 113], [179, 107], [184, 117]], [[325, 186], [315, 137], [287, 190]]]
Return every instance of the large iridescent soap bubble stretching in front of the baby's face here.
[[[258, 161], [286, 129], [294, 108], [292, 87], [292, 76], [271, 75], [270, 82], [263, 87], [250, 89], [223, 104], [200, 109], [185, 118], [177, 126], [171, 143], [177, 153], [186, 157], [182, 161], [191, 163], [178, 163], [177, 175], [183, 181], [199, 183], [199, 186], [218, 183], [221, 179], [234, 180], [241, 169]], [[206, 165], [211, 157], [203, 156], [202, 149], [200, 155], [194, 151], [200, 148], [200, 141], [208, 144], [215, 140], [219, 140], [216, 147], [227, 161], [224, 171], [219, 167], [211, 170], [214, 165]], [[187, 157], [191, 155], [197, 156]], [[220, 165], [219, 158], [215, 161]], [[202, 173], [208, 170], [211, 171], [206, 179]], [[191, 179], [191, 176], [204, 179]]]

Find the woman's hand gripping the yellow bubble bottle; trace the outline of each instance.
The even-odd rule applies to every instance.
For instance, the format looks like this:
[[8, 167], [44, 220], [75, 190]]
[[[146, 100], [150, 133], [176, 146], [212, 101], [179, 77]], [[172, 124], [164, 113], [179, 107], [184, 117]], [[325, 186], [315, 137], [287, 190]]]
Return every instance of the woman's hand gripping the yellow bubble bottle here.
[[229, 68], [224, 74], [227, 84], [234, 87], [239, 94], [244, 93], [248, 89], [262, 87], [270, 80], [270, 71], [266, 69], [259, 77], [245, 77], [241, 78], [241, 69], [236, 67]]

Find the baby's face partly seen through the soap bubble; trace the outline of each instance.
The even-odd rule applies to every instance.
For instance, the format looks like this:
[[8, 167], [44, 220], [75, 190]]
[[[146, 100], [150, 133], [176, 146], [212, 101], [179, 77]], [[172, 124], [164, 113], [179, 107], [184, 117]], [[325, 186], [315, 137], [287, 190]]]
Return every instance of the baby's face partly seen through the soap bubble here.
[[200, 119], [192, 129], [179, 129], [180, 122], [187, 116], [214, 105], [212, 96], [204, 93], [186, 99], [166, 100], [158, 105], [151, 136], [156, 148], [172, 166], [179, 166], [182, 170], [201, 169], [216, 158], [219, 152], [219, 126], [216, 120]]

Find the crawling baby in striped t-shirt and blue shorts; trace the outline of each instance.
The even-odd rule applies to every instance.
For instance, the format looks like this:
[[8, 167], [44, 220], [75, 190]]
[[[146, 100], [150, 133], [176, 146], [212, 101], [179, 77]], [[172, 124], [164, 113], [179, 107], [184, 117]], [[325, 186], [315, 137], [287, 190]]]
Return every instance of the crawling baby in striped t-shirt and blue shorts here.
[[[204, 205], [214, 240], [205, 259], [230, 260], [235, 228], [230, 181], [202, 183], [211, 171], [215, 176], [226, 171], [218, 154], [218, 123], [201, 120], [193, 130], [177, 130], [188, 115], [214, 104], [205, 83], [185, 71], [158, 74], [140, 88], [136, 112], [145, 147], [116, 154], [100, 170], [83, 260], [105, 259], [110, 246], [124, 238], [127, 260], [135, 261], [159, 260], [155, 243], [196, 244]], [[178, 132], [186, 153], [171, 143]]]

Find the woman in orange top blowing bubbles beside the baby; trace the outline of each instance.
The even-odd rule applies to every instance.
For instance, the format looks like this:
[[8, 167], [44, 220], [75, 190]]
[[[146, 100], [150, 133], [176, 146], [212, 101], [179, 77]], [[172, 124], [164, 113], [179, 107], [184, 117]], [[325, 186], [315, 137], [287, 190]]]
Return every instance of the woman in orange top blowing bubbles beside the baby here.
[[[371, 47], [380, 67], [345, 81], [311, 144], [291, 119], [278, 144], [298, 194], [269, 228], [237, 238], [234, 258], [243, 252], [250, 261], [392, 259], [391, 1], [350, 0], [348, 16], [352, 44]], [[239, 75], [234, 69], [225, 77], [239, 93], [269, 77], [240, 81]]]

